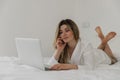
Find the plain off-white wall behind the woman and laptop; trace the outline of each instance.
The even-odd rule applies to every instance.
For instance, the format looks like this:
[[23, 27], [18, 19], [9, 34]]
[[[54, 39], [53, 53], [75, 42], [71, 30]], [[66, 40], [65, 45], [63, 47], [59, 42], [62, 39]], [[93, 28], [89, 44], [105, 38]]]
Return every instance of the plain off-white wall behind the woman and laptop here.
[[97, 25], [103, 32], [116, 31], [110, 45], [120, 45], [120, 0], [0, 0], [0, 56], [17, 56], [16, 37], [40, 38], [44, 56], [54, 52], [53, 40], [60, 20], [70, 18], [82, 37], [99, 44]]

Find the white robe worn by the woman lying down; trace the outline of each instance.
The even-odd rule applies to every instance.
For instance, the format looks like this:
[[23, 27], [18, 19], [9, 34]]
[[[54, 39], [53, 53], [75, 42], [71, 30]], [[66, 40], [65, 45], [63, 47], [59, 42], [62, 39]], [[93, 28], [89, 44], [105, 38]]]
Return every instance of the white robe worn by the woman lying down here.
[[[78, 69], [94, 69], [99, 64], [111, 64], [110, 58], [104, 51], [95, 49], [91, 43], [82, 40], [78, 41], [69, 62], [78, 65]], [[52, 56], [48, 65], [54, 64], [58, 64], [58, 61]]]

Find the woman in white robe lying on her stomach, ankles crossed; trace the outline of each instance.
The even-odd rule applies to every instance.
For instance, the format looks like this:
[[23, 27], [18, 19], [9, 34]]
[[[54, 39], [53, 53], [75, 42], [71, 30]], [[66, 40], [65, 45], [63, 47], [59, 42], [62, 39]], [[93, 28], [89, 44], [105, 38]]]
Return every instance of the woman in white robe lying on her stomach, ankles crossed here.
[[53, 70], [94, 68], [96, 64], [114, 64], [117, 59], [107, 44], [115, 37], [115, 32], [103, 35], [101, 28], [96, 27], [101, 44], [97, 49], [79, 37], [76, 23], [70, 19], [62, 20], [56, 30], [55, 52], [48, 64]]

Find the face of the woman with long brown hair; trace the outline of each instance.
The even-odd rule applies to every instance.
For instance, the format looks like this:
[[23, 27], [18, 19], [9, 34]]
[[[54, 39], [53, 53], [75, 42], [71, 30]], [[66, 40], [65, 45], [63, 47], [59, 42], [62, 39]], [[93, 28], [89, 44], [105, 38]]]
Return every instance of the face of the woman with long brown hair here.
[[74, 40], [73, 31], [67, 27], [67, 25], [62, 25], [60, 27], [59, 35], [65, 43], [69, 43]]

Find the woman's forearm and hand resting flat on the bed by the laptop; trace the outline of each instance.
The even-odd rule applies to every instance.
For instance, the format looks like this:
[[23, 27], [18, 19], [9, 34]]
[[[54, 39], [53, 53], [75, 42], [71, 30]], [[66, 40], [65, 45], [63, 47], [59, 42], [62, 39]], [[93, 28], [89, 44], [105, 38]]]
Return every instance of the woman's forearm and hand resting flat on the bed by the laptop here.
[[77, 65], [74, 64], [55, 64], [51, 67], [52, 70], [69, 70], [78, 69]]

